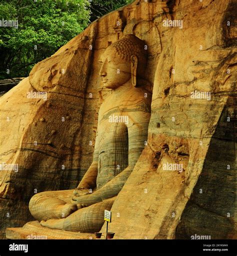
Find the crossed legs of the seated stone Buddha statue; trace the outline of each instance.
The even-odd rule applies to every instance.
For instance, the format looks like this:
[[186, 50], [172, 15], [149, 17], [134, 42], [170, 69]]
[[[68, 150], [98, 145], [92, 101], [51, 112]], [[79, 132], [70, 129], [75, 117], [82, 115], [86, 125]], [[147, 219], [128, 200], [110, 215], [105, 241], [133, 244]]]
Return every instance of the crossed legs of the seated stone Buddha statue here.
[[45, 191], [29, 202], [32, 216], [44, 227], [74, 232], [96, 232], [104, 223], [104, 210], [110, 210], [115, 197], [77, 210], [71, 203], [74, 190]]

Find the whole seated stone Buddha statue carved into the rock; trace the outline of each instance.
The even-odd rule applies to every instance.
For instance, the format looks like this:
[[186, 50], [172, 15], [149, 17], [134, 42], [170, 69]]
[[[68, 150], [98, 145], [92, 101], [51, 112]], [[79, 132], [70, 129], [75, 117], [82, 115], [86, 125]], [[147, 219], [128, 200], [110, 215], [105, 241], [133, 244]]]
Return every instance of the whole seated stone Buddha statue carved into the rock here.
[[99, 76], [111, 94], [99, 109], [92, 163], [76, 189], [41, 192], [30, 199], [30, 213], [42, 226], [101, 229], [104, 210], [111, 209], [147, 140], [151, 94], [144, 88], [144, 46], [134, 35], [125, 35], [102, 55]]

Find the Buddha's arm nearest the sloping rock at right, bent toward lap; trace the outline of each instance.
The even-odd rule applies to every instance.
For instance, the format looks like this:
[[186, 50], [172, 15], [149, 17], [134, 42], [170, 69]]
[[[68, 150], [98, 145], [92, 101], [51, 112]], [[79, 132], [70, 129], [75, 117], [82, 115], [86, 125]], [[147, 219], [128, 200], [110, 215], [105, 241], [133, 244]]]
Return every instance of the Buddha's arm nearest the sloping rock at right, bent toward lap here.
[[[78, 203], [90, 205], [101, 202], [104, 199], [116, 196], [127, 178], [131, 174], [135, 163], [137, 162], [141, 151], [144, 148], [144, 143], [147, 140], [147, 129], [150, 114], [145, 112], [133, 112], [129, 117], [128, 124], [128, 166], [116, 177], [110, 180], [100, 189], [92, 194], [74, 198]], [[132, 125], [131, 125], [132, 124]], [[130, 126], [131, 125], [131, 126]]]

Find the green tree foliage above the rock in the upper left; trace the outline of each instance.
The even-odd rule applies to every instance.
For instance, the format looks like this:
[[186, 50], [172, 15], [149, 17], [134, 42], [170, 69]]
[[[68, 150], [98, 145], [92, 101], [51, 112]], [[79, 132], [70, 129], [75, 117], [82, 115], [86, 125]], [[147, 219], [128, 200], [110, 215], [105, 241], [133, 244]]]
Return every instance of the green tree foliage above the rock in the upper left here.
[[[33, 65], [58, 50], [88, 23], [132, 0], [0, 0], [0, 79], [27, 76]], [[9, 73], [7, 73], [9, 70]]]

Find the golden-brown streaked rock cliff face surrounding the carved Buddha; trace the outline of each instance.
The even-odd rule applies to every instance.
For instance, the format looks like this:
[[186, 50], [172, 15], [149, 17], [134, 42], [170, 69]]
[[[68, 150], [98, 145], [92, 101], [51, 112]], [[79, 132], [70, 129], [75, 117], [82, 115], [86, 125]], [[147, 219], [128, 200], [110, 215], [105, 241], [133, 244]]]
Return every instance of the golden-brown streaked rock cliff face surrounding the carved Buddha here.
[[17, 172], [0, 171], [2, 236], [33, 220], [35, 193], [78, 185], [92, 161], [99, 106], [110, 94], [101, 88], [98, 60], [134, 34], [147, 44], [151, 118], [109, 231], [120, 239], [236, 238], [234, 9], [225, 0], [135, 1], [92, 23], [4, 94], [0, 163]]

